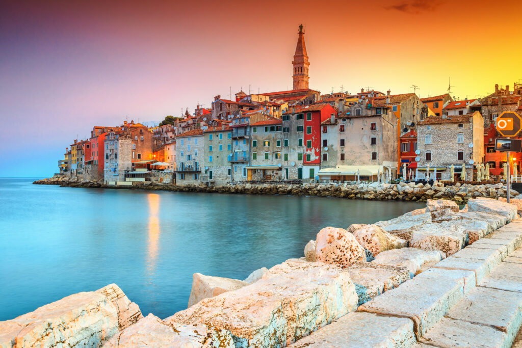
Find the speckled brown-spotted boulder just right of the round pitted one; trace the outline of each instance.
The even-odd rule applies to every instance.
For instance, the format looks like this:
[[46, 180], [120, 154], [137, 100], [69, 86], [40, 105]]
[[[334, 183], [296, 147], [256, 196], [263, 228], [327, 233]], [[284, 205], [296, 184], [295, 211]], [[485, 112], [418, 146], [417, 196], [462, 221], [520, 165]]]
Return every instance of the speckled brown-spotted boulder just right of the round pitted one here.
[[404, 239], [389, 234], [376, 225], [362, 226], [352, 234], [359, 244], [371, 253], [372, 257], [389, 249], [404, 248], [408, 244]]

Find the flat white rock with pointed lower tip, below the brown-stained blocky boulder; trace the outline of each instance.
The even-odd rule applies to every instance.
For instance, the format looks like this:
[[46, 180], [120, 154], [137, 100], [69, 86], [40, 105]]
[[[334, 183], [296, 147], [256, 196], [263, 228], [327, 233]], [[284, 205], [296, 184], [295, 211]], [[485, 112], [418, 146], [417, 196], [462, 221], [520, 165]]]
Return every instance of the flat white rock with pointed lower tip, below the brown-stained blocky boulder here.
[[419, 274], [423, 270], [435, 265], [445, 258], [445, 254], [439, 250], [422, 250], [419, 248], [401, 248], [384, 251], [379, 254], [372, 263], [406, 267], [410, 277]]

